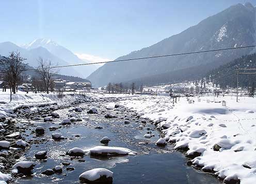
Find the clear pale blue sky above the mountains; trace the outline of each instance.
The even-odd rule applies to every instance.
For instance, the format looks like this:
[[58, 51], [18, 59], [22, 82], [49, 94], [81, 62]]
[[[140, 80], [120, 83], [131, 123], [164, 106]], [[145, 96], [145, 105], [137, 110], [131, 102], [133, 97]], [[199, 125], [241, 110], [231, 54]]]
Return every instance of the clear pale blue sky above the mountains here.
[[46, 38], [84, 59], [113, 60], [246, 2], [256, 6], [256, 0], [1, 1], [0, 42]]

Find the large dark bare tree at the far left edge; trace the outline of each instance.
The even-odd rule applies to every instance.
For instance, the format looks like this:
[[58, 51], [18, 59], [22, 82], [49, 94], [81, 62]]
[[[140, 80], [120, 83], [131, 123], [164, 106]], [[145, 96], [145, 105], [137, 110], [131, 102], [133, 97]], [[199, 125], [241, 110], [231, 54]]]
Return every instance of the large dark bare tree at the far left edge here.
[[4, 70], [4, 79], [10, 86], [10, 101], [12, 93], [16, 94], [17, 85], [21, 82], [21, 73], [25, 69], [20, 52], [10, 52], [8, 57], [0, 59], [0, 64]]

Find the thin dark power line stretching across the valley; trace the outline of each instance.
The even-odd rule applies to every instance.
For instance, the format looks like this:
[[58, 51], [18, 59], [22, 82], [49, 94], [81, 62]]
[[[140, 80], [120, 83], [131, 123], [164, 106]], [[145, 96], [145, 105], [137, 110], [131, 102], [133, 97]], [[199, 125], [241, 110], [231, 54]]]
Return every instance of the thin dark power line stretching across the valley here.
[[[216, 52], [216, 51], [223, 51], [223, 50], [234, 50], [234, 49], [243, 49], [243, 48], [252, 48], [252, 47], [256, 47], [256, 45], [242, 46], [242, 47], [231, 47], [231, 48], [222, 48], [222, 49], [212, 49], [212, 50], [202, 50], [202, 51], [195, 51], [195, 52], [174, 53], [174, 54], [167, 54], [167, 55], [142, 57], [142, 58], [132, 58], [132, 59], [124, 59], [124, 60], [114, 60], [114, 61], [103, 61], [103, 62], [96, 62], [96, 63], [82, 63], [82, 64], [74, 64], [74, 65], [53, 66], [53, 67], [50, 67], [50, 68], [52, 69], [52, 68], [64, 68], [64, 67], [94, 65], [94, 64], [103, 64], [103, 63], [116, 63], [116, 62], [123, 62], [123, 61], [146, 60], [146, 59], [154, 59], [154, 58], [183, 56], [183, 55], [188, 55], [188, 54]], [[21, 71], [30, 71], [30, 70], [40, 70], [40, 68], [24, 69], [24, 70], [21, 70]], [[9, 71], [0, 71], [0, 73], [6, 73], [6, 72], [9, 72]]]

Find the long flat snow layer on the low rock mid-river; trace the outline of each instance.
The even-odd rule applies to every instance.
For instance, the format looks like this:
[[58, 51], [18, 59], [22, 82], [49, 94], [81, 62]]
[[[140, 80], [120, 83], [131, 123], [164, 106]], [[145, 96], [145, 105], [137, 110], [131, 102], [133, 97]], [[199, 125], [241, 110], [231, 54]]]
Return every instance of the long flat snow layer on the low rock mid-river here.
[[136, 155], [136, 152], [127, 148], [111, 146], [95, 146], [89, 149], [90, 154], [110, 154], [110, 155]]

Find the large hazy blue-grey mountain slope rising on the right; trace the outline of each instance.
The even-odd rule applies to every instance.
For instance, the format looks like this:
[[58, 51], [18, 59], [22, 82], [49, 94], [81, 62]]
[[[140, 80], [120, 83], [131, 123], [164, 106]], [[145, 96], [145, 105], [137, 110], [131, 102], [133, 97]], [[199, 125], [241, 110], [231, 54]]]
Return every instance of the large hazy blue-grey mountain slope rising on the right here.
[[[170, 36], [152, 46], [133, 51], [116, 60], [151, 57], [165, 54], [193, 52], [255, 44], [255, 8], [247, 3], [237, 4], [219, 12], [183, 32]], [[95, 70], [87, 79], [94, 86], [103, 86], [108, 82], [126, 82], [132, 80], [154, 79], [159, 83], [189, 79], [197, 73], [204, 75], [209, 70], [228, 63], [252, 49], [236, 49], [201, 54], [189, 54], [177, 57], [155, 58], [139, 61], [106, 63]], [[192, 68], [189, 70], [189, 68]], [[169, 77], [169, 80], [166, 80]]]

